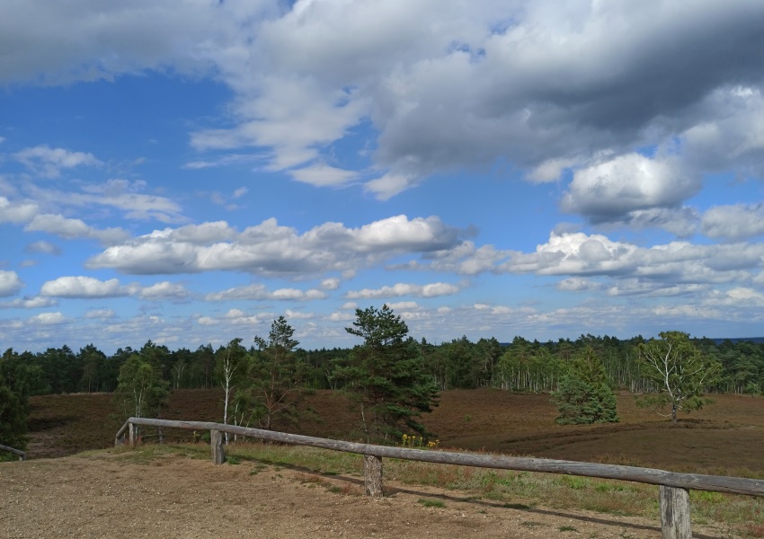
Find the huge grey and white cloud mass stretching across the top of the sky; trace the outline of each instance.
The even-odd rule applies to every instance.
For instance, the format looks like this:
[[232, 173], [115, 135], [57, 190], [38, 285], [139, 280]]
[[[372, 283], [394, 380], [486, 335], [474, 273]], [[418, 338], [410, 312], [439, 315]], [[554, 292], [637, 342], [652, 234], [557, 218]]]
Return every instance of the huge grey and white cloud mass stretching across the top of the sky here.
[[[270, 170], [335, 186], [353, 174], [325, 164], [331, 146], [369, 128], [379, 173], [366, 189], [380, 199], [433, 172], [497, 160], [551, 181], [595, 166], [603, 151], [629, 155], [677, 137], [688, 144], [688, 163], [701, 168], [731, 155], [754, 168], [761, 162], [760, 122], [748, 114], [751, 129], [741, 129], [745, 114], [723, 113], [732, 99], [758, 110], [762, 75], [751, 66], [764, 60], [764, 6], [747, 0], [564, 9], [550, 0], [165, 0], [76, 10], [30, 1], [6, 11], [0, 48], [22, 53], [0, 68], [0, 81], [61, 84], [147, 69], [214, 74], [234, 93], [234, 125], [200, 128], [192, 146], [253, 148]], [[24, 31], [31, 27], [40, 31]], [[704, 147], [716, 148], [706, 161]], [[35, 150], [54, 163], [50, 173], [94, 159], [56, 151]], [[691, 190], [685, 181], [680, 190]], [[651, 195], [606, 190], [628, 193], [626, 208], [644, 208], [639, 201]], [[678, 193], [657, 195], [663, 203]], [[610, 215], [579, 189], [568, 203], [593, 212], [587, 216]]]

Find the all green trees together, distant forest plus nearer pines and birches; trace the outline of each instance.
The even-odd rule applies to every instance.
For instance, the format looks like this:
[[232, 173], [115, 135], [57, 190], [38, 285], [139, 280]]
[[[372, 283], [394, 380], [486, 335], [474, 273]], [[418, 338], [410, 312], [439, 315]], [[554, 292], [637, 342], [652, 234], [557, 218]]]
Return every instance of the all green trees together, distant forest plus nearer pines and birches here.
[[[298, 419], [300, 391], [342, 390], [358, 402], [360, 429], [370, 440], [405, 431], [425, 436], [419, 414], [449, 389], [551, 393], [559, 422], [574, 423], [617, 420], [615, 389], [645, 393], [647, 404], [671, 404], [676, 420], [677, 410], [702, 405], [702, 393], [761, 394], [764, 388], [764, 343], [745, 340], [690, 340], [668, 331], [657, 340], [588, 334], [502, 343], [463, 336], [434, 344], [414, 340], [387, 305], [357, 310], [346, 330], [363, 342], [301, 349], [281, 316], [267, 337], [255, 336], [248, 346], [236, 338], [217, 349], [171, 350], [148, 340], [111, 356], [93, 344], [78, 352], [67, 345], [38, 353], [7, 349], [0, 357], [0, 443], [12, 445], [16, 437], [21, 445], [14, 421], [25, 417], [31, 395], [50, 393], [113, 393], [126, 416], [149, 416], [161, 413], [174, 389], [220, 387], [224, 422], [271, 429]], [[705, 375], [691, 376], [692, 365]]]

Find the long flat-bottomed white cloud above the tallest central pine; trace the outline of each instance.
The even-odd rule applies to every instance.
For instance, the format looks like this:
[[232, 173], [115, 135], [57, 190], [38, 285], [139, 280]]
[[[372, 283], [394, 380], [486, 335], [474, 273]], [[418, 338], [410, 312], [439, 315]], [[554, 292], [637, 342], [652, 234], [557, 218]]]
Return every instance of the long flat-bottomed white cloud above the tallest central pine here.
[[107, 248], [87, 266], [133, 274], [320, 274], [356, 270], [405, 252], [443, 249], [457, 243], [460, 234], [438, 217], [394, 216], [360, 228], [325, 223], [304, 234], [271, 218], [242, 232], [225, 223], [155, 231]]

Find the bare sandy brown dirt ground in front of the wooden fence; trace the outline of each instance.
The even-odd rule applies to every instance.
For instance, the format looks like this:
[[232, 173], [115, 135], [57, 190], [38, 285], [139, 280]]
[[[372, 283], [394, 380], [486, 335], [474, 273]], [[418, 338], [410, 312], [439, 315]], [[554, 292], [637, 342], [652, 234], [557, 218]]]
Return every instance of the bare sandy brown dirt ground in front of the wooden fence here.
[[[168, 456], [148, 464], [101, 453], [0, 464], [0, 535], [54, 537], [589, 537], [656, 538], [642, 518], [507, 508], [466, 492], [359, 477]], [[442, 507], [426, 507], [422, 500]], [[694, 529], [697, 537], [730, 532]]]

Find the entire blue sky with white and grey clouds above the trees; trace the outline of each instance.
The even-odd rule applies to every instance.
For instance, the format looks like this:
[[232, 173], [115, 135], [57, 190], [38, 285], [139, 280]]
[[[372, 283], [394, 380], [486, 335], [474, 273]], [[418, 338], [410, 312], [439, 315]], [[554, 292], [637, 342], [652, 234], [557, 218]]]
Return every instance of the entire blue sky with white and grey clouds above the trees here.
[[0, 348], [764, 335], [764, 3], [4, 0]]

